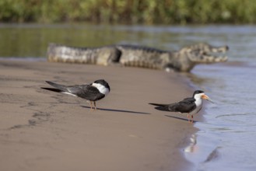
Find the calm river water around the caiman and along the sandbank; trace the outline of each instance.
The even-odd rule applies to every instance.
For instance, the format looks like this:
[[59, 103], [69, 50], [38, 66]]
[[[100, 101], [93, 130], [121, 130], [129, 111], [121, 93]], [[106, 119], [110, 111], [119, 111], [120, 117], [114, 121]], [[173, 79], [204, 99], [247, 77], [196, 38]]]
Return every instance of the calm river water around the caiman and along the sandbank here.
[[256, 26], [106, 26], [86, 24], [1, 24], [0, 57], [46, 60], [50, 42], [79, 47], [143, 44], [178, 50], [206, 42], [228, 45], [229, 62], [197, 65], [191, 86], [215, 103], [205, 103], [198, 132], [184, 157], [191, 170], [256, 170]]

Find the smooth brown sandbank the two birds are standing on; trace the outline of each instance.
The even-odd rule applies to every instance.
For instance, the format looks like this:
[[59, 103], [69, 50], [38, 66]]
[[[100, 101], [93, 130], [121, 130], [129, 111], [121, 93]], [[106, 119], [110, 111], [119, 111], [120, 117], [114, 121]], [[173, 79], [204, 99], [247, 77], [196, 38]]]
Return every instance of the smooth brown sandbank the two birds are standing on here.
[[[148, 104], [191, 96], [180, 77], [142, 68], [0, 61], [0, 170], [189, 169], [181, 150], [195, 127], [186, 116]], [[96, 79], [111, 88], [96, 111], [84, 99], [40, 89], [51, 87], [45, 80]]]

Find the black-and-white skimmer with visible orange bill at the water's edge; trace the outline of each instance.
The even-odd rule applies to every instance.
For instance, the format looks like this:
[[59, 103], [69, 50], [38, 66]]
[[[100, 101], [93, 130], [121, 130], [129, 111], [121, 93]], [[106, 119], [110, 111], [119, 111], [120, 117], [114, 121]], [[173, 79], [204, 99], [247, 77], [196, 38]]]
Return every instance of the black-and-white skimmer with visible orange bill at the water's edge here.
[[[155, 107], [156, 110], [188, 113], [187, 115], [188, 122], [193, 123], [194, 122], [193, 115], [195, 113], [198, 113], [202, 109], [202, 99], [207, 99], [212, 102], [212, 99], [210, 99], [209, 96], [206, 96], [205, 92], [203, 92], [202, 90], [196, 90], [193, 94], [193, 97], [188, 97], [177, 103], [171, 103], [171, 104], [149, 103], [149, 104], [156, 106]], [[191, 116], [191, 120], [190, 120], [190, 116]]]

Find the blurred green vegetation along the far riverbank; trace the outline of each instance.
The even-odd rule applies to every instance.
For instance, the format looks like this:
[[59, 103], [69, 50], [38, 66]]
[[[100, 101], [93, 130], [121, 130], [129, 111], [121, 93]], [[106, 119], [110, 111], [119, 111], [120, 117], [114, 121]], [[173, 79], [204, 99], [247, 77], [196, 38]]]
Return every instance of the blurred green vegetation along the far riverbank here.
[[1, 23], [256, 23], [254, 0], [0, 0]]

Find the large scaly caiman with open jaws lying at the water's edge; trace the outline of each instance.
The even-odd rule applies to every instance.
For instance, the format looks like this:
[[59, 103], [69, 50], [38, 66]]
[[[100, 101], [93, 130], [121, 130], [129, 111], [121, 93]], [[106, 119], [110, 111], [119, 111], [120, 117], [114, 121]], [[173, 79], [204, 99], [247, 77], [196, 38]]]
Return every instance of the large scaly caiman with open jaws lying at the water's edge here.
[[198, 64], [227, 61], [226, 56], [219, 56], [219, 54], [226, 53], [228, 49], [227, 46], [213, 47], [209, 44], [194, 44], [183, 47], [180, 51], [163, 51], [153, 47], [118, 44], [105, 47], [68, 47], [61, 44], [49, 44], [47, 60], [190, 72]]

